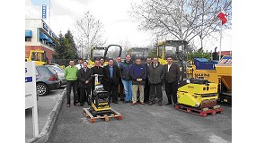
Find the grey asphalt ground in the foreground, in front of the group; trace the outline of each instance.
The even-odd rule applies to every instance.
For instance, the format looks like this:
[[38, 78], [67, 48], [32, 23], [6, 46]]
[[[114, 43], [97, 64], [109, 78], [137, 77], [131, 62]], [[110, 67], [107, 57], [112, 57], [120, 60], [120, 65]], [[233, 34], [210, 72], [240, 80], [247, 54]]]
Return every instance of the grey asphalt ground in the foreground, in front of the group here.
[[[167, 102], [163, 91], [163, 104]], [[91, 123], [83, 107], [62, 105], [49, 143], [227, 143], [232, 141], [232, 107], [222, 105], [224, 114], [202, 117], [176, 110], [172, 105], [111, 104], [123, 120]]]

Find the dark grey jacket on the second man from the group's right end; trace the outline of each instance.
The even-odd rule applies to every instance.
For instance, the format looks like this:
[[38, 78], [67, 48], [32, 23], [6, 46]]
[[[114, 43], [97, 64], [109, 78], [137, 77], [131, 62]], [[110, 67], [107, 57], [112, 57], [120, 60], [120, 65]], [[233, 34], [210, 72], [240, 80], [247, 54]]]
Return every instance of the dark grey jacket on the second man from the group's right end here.
[[150, 65], [147, 72], [149, 84], [161, 84], [163, 85], [164, 70], [163, 65], [158, 63], [154, 69], [154, 64]]

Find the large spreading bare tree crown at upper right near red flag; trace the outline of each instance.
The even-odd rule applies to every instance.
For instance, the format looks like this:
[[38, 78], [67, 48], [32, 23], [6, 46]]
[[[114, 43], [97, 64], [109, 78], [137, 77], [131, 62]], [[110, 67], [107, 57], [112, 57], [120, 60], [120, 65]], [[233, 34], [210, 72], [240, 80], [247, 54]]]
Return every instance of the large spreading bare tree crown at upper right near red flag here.
[[140, 21], [140, 29], [190, 42], [215, 31], [221, 9], [231, 10], [231, 0], [144, 0], [132, 5], [131, 13]]

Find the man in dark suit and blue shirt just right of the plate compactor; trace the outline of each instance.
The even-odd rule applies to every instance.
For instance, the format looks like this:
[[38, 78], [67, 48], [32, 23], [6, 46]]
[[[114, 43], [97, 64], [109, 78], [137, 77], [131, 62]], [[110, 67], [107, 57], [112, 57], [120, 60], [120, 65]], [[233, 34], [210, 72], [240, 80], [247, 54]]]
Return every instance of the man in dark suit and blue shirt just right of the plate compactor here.
[[118, 104], [119, 89], [119, 67], [114, 65], [114, 60], [110, 59], [109, 64], [103, 67], [103, 86], [110, 93], [112, 102]]

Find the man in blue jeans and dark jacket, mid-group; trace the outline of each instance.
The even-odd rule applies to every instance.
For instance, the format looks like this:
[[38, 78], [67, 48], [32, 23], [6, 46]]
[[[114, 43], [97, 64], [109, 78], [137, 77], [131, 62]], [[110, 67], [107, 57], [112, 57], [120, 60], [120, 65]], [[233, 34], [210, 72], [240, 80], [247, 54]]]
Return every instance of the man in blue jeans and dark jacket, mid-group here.
[[120, 65], [120, 76], [126, 93], [126, 101], [124, 101], [124, 103], [131, 102], [132, 97], [132, 80], [129, 75], [131, 66], [131, 56], [126, 55], [126, 60]]

